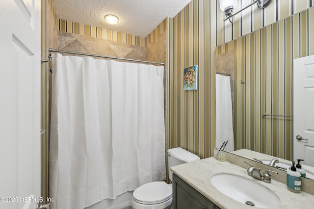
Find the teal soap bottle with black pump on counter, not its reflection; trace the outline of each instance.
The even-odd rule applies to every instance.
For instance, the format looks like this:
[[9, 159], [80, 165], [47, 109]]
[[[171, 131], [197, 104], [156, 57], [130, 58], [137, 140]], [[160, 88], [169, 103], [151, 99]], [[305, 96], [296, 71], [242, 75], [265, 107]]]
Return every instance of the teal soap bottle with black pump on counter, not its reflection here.
[[294, 165], [295, 162], [292, 161], [292, 166], [287, 169], [287, 188], [290, 191], [299, 193], [301, 192], [301, 174], [296, 171]]

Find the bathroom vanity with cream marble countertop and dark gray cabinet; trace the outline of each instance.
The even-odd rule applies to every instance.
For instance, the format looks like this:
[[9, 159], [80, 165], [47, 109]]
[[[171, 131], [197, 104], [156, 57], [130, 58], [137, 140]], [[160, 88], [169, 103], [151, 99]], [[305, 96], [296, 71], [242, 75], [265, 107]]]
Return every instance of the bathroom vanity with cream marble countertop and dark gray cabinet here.
[[[247, 167], [249, 167], [249, 165]], [[258, 201], [261, 202], [259, 204], [260, 206], [262, 204], [262, 207], [259, 208], [309, 209], [314, 206], [314, 195], [312, 194], [304, 191], [301, 193], [290, 192], [288, 191], [286, 184], [273, 179], [271, 180], [271, 183], [262, 182], [250, 177], [246, 168], [226, 161], [220, 162], [213, 157], [173, 166], [171, 167], [171, 170], [174, 173], [173, 209], [252, 209], [252, 206], [246, 205], [245, 201], [240, 202], [223, 194], [211, 183], [210, 180], [212, 176], [220, 174], [235, 176], [236, 178], [247, 181], [250, 185], [252, 183], [253, 186], [247, 188], [251, 189], [251, 191], [255, 191], [255, 189], [259, 191], [259, 187], [262, 187], [266, 189], [264, 190], [266, 193], [269, 192], [270, 194], [273, 194], [279, 201], [276, 206], [272, 206], [269, 205], [271, 201], [261, 198], [261, 200]], [[264, 170], [261, 170], [261, 172], [264, 172]], [[257, 187], [255, 188], [255, 186]], [[239, 189], [245, 189], [244, 184], [243, 186], [238, 185], [238, 187]], [[264, 194], [260, 195], [262, 197]]]

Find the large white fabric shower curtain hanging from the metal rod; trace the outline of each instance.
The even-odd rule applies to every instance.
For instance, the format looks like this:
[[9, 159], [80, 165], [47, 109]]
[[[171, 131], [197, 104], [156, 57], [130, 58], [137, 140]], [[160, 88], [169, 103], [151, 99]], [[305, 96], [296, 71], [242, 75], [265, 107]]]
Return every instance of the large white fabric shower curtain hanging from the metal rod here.
[[164, 180], [163, 67], [52, 60], [52, 209], [83, 209]]

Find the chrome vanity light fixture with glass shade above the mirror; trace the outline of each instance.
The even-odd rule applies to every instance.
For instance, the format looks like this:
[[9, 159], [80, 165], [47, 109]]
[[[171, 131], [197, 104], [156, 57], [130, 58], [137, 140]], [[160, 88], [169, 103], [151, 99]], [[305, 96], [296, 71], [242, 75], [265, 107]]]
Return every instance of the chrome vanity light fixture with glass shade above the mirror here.
[[243, 9], [234, 12], [234, 8], [237, 4], [237, 0], [219, 0], [220, 3], [220, 9], [225, 13], [226, 18], [224, 19], [224, 21], [229, 20], [230, 23], [234, 23], [235, 22], [235, 15], [242, 12], [244, 9], [252, 6], [253, 4], [257, 3], [257, 8], [258, 9], [263, 9], [266, 8], [270, 3], [272, 2], [272, 0], [253, 0], [253, 2], [249, 5], [247, 5], [246, 7], [244, 7]]

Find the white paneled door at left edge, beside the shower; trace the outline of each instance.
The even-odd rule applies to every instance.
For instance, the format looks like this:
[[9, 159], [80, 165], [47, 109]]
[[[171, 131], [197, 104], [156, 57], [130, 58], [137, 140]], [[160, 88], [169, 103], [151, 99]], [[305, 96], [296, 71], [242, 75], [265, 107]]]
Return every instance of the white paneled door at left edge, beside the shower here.
[[0, 209], [40, 200], [40, 0], [0, 0]]

